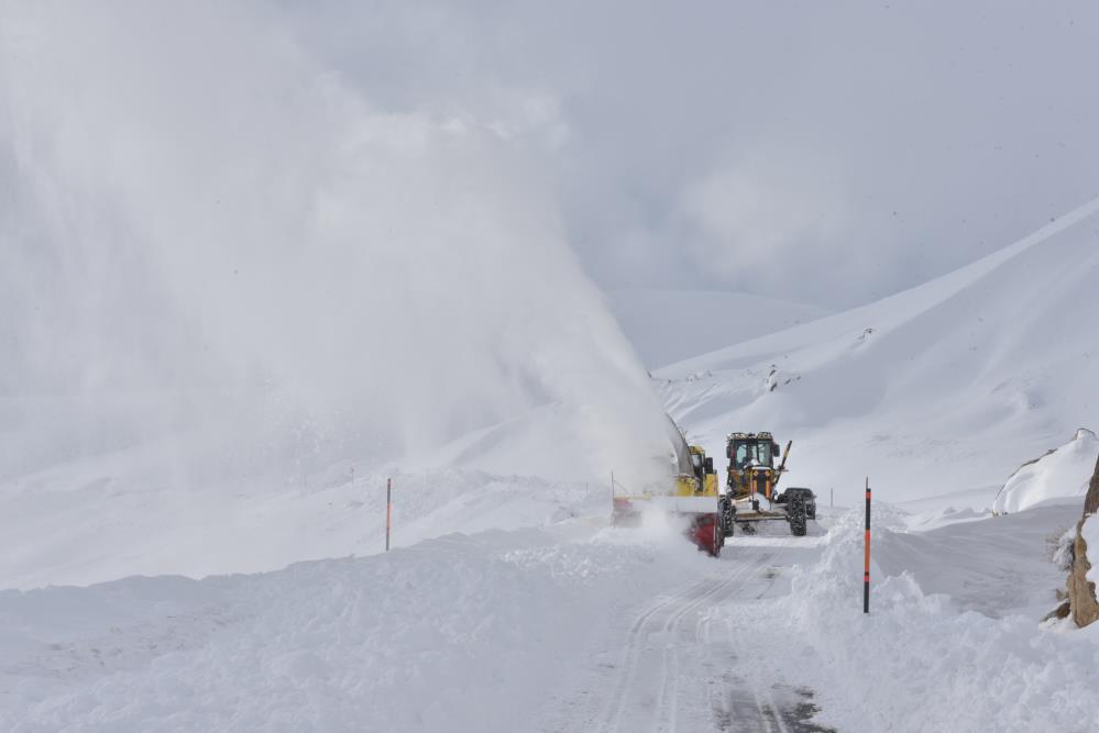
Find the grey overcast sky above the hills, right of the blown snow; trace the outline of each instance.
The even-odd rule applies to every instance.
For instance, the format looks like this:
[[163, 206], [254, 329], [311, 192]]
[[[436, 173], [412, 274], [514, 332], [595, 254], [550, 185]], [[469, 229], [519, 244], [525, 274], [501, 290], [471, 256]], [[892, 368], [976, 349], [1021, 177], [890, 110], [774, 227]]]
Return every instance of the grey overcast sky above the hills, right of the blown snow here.
[[384, 110], [497, 127], [605, 288], [839, 308], [1099, 195], [1093, 2], [294, 5]]

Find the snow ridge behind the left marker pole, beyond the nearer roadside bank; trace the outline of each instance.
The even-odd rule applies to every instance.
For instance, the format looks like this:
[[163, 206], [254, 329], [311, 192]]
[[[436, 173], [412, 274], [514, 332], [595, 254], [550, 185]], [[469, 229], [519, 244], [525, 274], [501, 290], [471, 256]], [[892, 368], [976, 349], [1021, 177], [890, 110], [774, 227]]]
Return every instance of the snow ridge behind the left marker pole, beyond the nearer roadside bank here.
[[[111, 474], [0, 491], [0, 587], [88, 585], [128, 575], [257, 573], [384, 545], [385, 471], [351, 466], [270, 486], [217, 482], [186, 493]], [[364, 475], [365, 474], [365, 475]], [[454, 532], [606, 518], [602, 485], [436, 468], [393, 473], [393, 544]]]

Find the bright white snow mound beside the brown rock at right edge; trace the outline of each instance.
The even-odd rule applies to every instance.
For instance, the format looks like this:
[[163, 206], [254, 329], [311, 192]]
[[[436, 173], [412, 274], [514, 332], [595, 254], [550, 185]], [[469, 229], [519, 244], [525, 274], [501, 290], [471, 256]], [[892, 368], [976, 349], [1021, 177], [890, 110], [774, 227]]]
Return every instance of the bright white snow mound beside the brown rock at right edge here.
[[1099, 438], [1080, 429], [1071, 441], [1024, 464], [1000, 489], [992, 511], [1019, 512], [1051, 499], [1082, 497], [1099, 457]]

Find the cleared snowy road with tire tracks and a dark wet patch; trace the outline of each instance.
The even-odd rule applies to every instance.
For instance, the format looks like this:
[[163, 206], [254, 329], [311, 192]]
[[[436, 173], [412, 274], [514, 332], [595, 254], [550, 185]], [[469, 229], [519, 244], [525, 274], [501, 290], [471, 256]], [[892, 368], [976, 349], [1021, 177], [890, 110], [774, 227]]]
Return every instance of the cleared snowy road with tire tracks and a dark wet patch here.
[[773, 633], [759, 601], [789, 591], [788, 570], [817, 538], [735, 537], [702, 577], [625, 618], [545, 731], [823, 731], [812, 692], [755, 664]]

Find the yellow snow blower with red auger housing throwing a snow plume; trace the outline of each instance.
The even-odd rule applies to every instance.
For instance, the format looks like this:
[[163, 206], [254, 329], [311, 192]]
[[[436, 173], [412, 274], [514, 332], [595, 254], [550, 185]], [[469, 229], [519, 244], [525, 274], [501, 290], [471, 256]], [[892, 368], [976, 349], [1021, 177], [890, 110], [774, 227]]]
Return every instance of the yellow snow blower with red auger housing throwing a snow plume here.
[[689, 446], [682, 436], [680, 441], [675, 446], [678, 475], [671, 486], [655, 486], [633, 495], [627, 492], [628, 496], [615, 493], [611, 523], [639, 526], [645, 514], [650, 512], [682, 518], [688, 538], [699, 549], [717, 557], [725, 544], [725, 532], [719, 514], [721, 495], [714, 459], [697, 445]]

